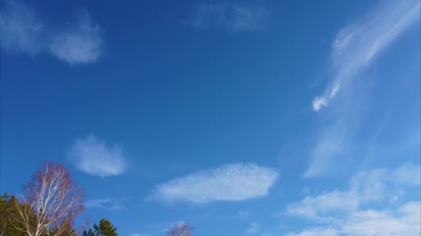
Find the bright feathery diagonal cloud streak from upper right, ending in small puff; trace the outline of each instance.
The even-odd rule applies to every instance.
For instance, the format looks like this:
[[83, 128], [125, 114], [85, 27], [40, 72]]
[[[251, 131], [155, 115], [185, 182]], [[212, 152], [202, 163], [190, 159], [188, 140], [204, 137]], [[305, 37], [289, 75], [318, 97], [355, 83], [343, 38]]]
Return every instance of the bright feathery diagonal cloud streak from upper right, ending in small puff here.
[[[334, 78], [317, 100], [323, 100], [324, 106], [329, 104], [337, 96], [339, 85], [350, 86], [359, 72], [418, 19], [420, 1], [388, 1], [340, 30], [332, 46]], [[320, 110], [322, 107], [314, 106], [314, 101], [314, 110]]]

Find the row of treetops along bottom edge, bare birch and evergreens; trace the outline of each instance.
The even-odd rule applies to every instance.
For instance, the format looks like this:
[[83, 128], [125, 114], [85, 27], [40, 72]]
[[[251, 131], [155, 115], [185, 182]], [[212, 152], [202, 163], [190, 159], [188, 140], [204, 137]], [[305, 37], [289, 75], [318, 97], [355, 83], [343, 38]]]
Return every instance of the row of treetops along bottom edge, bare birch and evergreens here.
[[[0, 196], [0, 236], [118, 236], [117, 227], [101, 219], [93, 228], [75, 226], [84, 210], [84, 191], [62, 165], [38, 168], [24, 185], [22, 197], [7, 192]], [[192, 236], [194, 228], [175, 223], [169, 236]]]

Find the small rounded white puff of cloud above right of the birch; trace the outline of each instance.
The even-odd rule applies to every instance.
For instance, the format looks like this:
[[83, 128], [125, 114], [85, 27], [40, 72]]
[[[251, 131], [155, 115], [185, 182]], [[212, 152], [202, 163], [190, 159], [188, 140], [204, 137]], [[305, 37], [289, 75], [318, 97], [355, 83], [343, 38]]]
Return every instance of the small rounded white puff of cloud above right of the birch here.
[[93, 135], [86, 139], [76, 139], [68, 157], [78, 170], [100, 177], [120, 175], [127, 167], [120, 146], [109, 148]]

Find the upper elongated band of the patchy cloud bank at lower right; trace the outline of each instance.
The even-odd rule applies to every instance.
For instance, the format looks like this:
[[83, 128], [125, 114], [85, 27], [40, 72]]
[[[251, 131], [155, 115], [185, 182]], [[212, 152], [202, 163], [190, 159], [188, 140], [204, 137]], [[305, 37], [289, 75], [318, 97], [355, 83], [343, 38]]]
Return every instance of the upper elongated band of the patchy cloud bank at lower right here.
[[333, 190], [316, 197], [307, 196], [301, 202], [289, 205], [288, 213], [322, 219], [332, 212], [349, 212], [370, 201], [391, 199], [400, 188], [419, 186], [420, 171], [421, 166], [406, 163], [395, 170], [378, 168], [360, 172], [350, 179], [348, 190]]

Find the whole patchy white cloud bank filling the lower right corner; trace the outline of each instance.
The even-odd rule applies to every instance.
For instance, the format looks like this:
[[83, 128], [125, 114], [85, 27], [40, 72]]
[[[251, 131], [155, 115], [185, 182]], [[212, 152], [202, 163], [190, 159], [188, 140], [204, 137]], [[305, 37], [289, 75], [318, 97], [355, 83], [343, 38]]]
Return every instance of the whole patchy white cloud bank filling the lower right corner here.
[[[421, 166], [409, 163], [395, 170], [375, 169], [357, 173], [348, 190], [307, 196], [289, 204], [287, 214], [305, 217], [316, 224], [289, 236], [419, 235], [421, 202], [408, 201], [404, 195], [420, 188], [420, 176]], [[379, 209], [378, 204], [384, 204], [383, 208]]]

